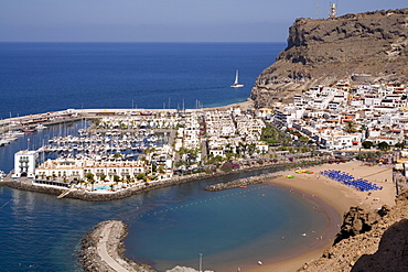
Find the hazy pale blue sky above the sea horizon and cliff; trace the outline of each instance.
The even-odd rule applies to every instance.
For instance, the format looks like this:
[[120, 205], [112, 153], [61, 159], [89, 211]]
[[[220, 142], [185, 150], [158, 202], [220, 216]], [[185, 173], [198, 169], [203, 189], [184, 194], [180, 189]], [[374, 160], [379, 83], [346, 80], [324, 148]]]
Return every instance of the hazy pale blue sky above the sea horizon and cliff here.
[[[316, 2], [319, 9], [316, 12]], [[407, 0], [2, 0], [0, 42], [284, 42], [297, 18]]]

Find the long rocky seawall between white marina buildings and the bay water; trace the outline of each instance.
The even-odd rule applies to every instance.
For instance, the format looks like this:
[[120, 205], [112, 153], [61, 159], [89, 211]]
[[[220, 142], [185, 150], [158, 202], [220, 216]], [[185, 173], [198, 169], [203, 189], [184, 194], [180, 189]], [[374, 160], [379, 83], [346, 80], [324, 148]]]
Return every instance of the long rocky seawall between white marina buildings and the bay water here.
[[[67, 188], [58, 188], [57, 186], [46, 186], [46, 185], [34, 185], [32, 183], [31, 178], [11, 178], [10, 173], [2, 182], [0, 181], [0, 185], [6, 185], [11, 188], [15, 189], [22, 189], [22, 191], [29, 191], [29, 192], [36, 192], [36, 193], [43, 193], [49, 195], [55, 195], [60, 196], [64, 194], [65, 198], [73, 198], [73, 199], [80, 199], [86, 202], [108, 202], [108, 200], [117, 200], [130, 197], [132, 195], [142, 194], [152, 189], [159, 189], [168, 186], [174, 186], [180, 185], [184, 183], [195, 182], [195, 181], [202, 181], [206, 178], [212, 177], [218, 177], [218, 176], [226, 176], [230, 174], [237, 174], [237, 173], [245, 173], [245, 172], [251, 172], [251, 171], [258, 171], [258, 170], [284, 170], [284, 168], [293, 168], [293, 167], [301, 167], [307, 165], [316, 165], [326, 163], [326, 160], [316, 160], [313, 157], [309, 159], [301, 159], [299, 162], [291, 162], [291, 163], [268, 163], [268, 164], [261, 164], [261, 165], [251, 165], [251, 166], [245, 166], [238, 170], [234, 170], [230, 172], [223, 172], [223, 171], [216, 171], [211, 174], [207, 173], [196, 173], [185, 176], [173, 176], [170, 181], [161, 181], [161, 182], [150, 182], [143, 185], [139, 186], [132, 186], [125, 189], [120, 189], [117, 192], [108, 192], [108, 193], [97, 193], [97, 192], [89, 192], [85, 189], [69, 189], [69, 193], [67, 193]], [[253, 182], [261, 183], [260, 181], [267, 177], [254, 177]], [[251, 181], [251, 179], [250, 179]], [[240, 183], [240, 182], [238, 182]]]

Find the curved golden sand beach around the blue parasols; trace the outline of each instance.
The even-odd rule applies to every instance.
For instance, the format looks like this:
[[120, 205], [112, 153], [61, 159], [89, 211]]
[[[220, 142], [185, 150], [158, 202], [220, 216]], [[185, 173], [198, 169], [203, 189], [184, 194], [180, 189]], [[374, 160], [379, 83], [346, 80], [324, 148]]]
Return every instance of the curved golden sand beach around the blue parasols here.
[[[304, 263], [318, 259], [323, 251], [332, 246], [333, 233], [340, 230], [341, 220], [344, 213], [348, 211], [351, 206], [359, 206], [366, 209], [378, 209], [383, 205], [394, 206], [395, 202], [395, 184], [393, 184], [393, 167], [391, 165], [363, 165], [359, 161], [352, 161], [341, 164], [323, 164], [307, 170], [314, 172], [313, 174], [297, 174], [296, 170], [282, 171], [279, 174], [282, 176], [273, 179], [271, 183], [287, 186], [296, 191], [304, 192], [311, 197], [316, 197], [321, 202], [331, 206], [336, 213], [329, 215], [333, 222], [328, 235], [321, 240], [321, 243], [310, 249], [308, 252], [299, 252], [299, 255], [273, 263], [265, 263], [262, 265], [254, 264], [253, 268], [241, 271], [268, 272], [268, 271], [297, 271]], [[382, 191], [373, 191], [368, 195], [367, 192], [358, 192], [342, 185], [339, 182], [332, 181], [319, 174], [323, 170], [340, 170], [354, 175], [361, 176], [371, 183], [383, 186]], [[286, 177], [288, 174], [293, 175], [294, 178]], [[334, 218], [333, 218], [334, 217]]]

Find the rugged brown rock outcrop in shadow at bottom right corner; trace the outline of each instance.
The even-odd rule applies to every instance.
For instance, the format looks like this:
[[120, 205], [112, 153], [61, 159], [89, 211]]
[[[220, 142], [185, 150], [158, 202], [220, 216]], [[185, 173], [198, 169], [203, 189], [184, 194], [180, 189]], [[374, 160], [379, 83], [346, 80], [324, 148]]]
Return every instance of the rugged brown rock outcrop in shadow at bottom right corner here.
[[298, 271], [408, 271], [408, 191], [393, 207], [352, 207], [335, 244]]

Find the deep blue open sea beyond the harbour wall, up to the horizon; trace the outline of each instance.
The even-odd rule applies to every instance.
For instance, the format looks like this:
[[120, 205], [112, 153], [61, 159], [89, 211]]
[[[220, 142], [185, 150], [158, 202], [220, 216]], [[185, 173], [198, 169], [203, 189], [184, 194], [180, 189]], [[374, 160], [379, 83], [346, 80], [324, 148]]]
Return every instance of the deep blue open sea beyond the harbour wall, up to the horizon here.
[[[284, 43], [0, 43], [0, 118], [245, 101]], [[243, 88], [230, 88], [239, 70]]]

